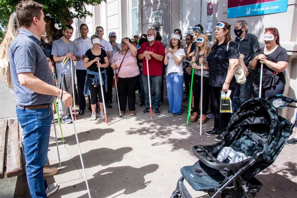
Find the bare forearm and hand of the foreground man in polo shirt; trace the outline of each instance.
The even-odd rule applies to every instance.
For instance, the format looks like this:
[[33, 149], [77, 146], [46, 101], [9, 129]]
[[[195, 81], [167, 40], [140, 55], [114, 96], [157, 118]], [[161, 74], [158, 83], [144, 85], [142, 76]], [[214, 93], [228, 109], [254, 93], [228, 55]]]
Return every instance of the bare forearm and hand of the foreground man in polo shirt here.
[[[18, 79], [19, 84], [21, 84], [24, 87], [27, 87], [33, 92], [45, 95], [52, 95], [61, 99], [61, 89], [45, 83], [44, 81], [40, 80], [35, 75], [33, 75], [32, 72], [18, 73]], [[63, 91], [62, 101], [65, 107], [72, 106], [71, 94], [67, 93], [66, 91]]]

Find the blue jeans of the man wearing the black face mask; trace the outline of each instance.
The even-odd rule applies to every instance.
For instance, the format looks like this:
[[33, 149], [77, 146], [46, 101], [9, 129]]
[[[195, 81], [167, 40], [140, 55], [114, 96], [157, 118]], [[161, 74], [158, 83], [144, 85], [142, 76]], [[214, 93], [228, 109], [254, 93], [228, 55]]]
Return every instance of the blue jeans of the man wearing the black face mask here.
[[237, 111], [239, 107], [248, 100], [251, 91], [251, 79], [252, 73], [247, 77], [247, 81], [244, 84], [238, 84], [233, 95], [233, 112]]

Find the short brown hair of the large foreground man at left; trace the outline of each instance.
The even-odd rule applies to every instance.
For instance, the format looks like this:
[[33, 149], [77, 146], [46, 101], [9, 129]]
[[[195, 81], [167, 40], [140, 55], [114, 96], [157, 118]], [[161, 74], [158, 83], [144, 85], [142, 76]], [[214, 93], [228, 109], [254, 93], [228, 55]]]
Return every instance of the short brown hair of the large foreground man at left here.
[[19, 26], [30, 27], [33, 22], [33, 17], [40, 20], [43, 5], [35, 1], [22, 1], [16, 6], [16, 17], [18, 18]]

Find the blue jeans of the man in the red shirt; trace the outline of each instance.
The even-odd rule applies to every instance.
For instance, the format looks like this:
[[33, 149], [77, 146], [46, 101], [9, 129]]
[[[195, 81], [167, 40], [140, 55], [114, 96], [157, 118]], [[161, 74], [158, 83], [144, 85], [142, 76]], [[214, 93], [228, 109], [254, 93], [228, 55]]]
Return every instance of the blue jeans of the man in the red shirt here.
[[[162, 81], [162, 76], [161, 75], [150, 75], [149, 76], [149, 82], [150, 86], [152, 88], [152, 84], [154, 87], [154, 108], [158, 109], [160, 107], [161, 103], [161, 82]], [[145, 101], [146, 101], [146, 107], [149, 108], [149, 82], [148, 82], [148, 76], [147, 75], [142, 75], [142, 82], [143, 82], [143, 87], [144, 87], [144, 92], [145, 92]], [[152, 96], [151, 96], [152, 98]]]

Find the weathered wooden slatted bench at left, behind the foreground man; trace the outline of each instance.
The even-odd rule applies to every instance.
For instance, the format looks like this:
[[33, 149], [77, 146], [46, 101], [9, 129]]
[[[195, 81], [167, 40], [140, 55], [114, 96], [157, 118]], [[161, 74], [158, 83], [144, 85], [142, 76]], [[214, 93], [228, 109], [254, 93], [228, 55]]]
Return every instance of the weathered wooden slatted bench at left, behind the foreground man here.
[[[0, 122], [0, 179], [18, 176], [15, 195], [26, 197], [28, 183], [25, 174], [25, 157], [21, 149], [19, 122], [2, 119]], [[21, 186], [19, 186], [21, 185]]]

